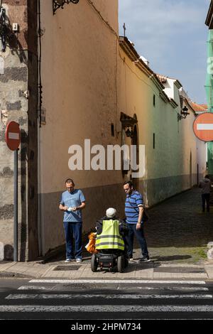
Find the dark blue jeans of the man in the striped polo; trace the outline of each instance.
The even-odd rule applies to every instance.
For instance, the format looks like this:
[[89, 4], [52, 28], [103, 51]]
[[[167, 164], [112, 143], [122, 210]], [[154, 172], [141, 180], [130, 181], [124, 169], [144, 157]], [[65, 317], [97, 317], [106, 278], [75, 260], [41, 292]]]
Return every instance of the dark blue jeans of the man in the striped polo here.
[[127, 242], [128, 242], [128, 255], [129, 257], [133, 257], [133, 239], [134, 235], [136, 235], [136, 238], [141, 246], [141, 254], [143, 257], [148, 257], [148, 249], [146, 245], [146, 239], [144, 237], [144, 232], [143, 232], [143, 225], [141, 225], [140, 230], [136, 230], [136, 224], [128, 224], [129, 227], [129, 233], [126, 237]]

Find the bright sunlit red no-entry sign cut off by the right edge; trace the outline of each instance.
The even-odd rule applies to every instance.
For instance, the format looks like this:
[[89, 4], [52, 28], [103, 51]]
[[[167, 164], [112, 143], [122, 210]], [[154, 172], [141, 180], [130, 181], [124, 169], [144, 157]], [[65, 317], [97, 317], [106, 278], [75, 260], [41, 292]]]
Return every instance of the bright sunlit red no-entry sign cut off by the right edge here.
[[213, 112], [204, 112], [196, 117], [193, 130], [202, 141], [213, 141]]

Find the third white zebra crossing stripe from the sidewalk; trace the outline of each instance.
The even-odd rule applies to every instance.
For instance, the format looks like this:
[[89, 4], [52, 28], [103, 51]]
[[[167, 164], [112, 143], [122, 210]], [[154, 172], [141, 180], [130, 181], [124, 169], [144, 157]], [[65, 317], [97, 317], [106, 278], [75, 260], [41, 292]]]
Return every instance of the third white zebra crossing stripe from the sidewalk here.
[[88, 299], [88, 298], [103, 298], [103, 299], [208, 299], [212, 298], [210, 294], [185, 294], [185, 295], [154, 295], [154, 294], [67, 294], [67, 293], [54, 293], [54, 294], [18, 294], [13, 293], [6, 297], [6, 299]]

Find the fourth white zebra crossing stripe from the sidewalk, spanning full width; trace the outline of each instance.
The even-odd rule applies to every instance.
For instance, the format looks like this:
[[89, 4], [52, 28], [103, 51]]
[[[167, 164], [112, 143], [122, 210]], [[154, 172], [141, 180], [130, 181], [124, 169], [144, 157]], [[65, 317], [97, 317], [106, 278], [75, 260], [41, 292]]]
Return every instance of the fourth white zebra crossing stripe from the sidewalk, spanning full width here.
[[213, 312], [210, 305], [166, 305], [166, 306], [140, 306], [140, 305], [93, 305], [93, 306], [43, 306], [43, 305], [1, 305], [0, 313], [58, 313], [58, 312], [87, 312], [87, 313], [155, 313], [155, 312]]

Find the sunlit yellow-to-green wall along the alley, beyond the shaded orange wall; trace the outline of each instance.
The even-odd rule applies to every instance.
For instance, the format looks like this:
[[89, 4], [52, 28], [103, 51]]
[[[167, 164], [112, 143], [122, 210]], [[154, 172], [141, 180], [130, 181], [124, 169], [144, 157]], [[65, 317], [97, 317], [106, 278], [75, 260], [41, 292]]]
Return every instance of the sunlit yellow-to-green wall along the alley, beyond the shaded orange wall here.
[[140, 183], [140, 190], [147, 205], [153, 205], [190, 188], [190, 173], [192, 185], [195, 185], [197, 163], [199, 173], [203, 174], [205, 171], [205, 145], [197, 143], [192, 131], [195, 115], [189, 110], [190, 115], [178, 122], [180, 98], [176, 85], [173, 85], [170, 95], [179, 104], [176, 109], [169, 102], [163, 101], [151, 78], [138, 69], [120, 48], [119, 110], [131, 117], [136, 114], [138, 118], [139, 144], [146, 146], [146, 175], [141, 179], [143, 182]]

